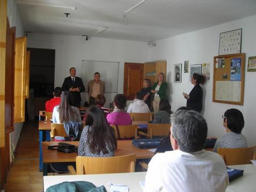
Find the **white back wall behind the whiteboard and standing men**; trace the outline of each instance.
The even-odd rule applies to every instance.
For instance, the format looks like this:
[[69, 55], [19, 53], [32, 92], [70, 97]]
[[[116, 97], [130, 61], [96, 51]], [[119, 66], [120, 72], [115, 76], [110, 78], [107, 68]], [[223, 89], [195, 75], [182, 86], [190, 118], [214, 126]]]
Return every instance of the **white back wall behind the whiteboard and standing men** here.
[[[119, 62], [118, 93], [123, 93], [124, 62], [145, 62], [149, 59], [145, 42], [106, 38], [89, 38], [85, 41], [82, 36], [30, 34], [28, 47], [55, 49], [54, 86], [62, 86], [64, 78], [70, 75], [70, 67], [75, 67], [77, 76], [81, 77], [82, 60]], [[94, 72], [92, 71], [92, 79]], [[101, 79], [104, 81], [103, 76]], [[106, 93], [106, 103], [111, 102], [115, 95], [116, 93]], [[86, 99], [87, 93], [82, 93], [82, 105]]]

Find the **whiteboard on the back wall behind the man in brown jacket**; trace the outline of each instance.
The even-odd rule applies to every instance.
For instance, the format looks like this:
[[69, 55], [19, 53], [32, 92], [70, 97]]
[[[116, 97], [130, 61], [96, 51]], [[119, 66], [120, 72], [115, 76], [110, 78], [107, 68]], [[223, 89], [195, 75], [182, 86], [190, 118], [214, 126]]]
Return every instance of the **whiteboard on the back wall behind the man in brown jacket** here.
[[117, 93], [119, 62], [110, 61], [82, 61], [82, 79], [87, 92], [87, 84], [94, 78], [94, 73], [100, 73], [101, 81], [105, 81], [105, 93]]

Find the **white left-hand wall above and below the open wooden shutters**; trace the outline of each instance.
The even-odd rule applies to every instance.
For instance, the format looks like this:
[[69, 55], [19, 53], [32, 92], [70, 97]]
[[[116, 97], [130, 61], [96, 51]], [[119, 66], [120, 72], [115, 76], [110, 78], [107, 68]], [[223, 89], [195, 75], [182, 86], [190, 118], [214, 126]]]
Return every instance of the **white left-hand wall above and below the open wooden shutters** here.
[[[10, 27], [16, 27], [16, 37], [24, 36], [24, 29], [15, 0], [7, 1], [7, 17], [9, 19]], [[14, 131], [10, 133], [10, 143], [13, 143], [15, 147], [17, 146], [22, 126], [23, 123], [15, 123]], [[12, 145], [10, 147], [12, 149]]]

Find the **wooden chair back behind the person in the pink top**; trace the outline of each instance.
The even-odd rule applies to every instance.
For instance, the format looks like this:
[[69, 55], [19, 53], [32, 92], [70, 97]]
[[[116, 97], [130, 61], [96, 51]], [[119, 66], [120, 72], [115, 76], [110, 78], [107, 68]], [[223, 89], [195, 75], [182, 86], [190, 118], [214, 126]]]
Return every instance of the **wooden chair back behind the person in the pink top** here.
[[112, 125], [115, 130], [116, 139], [132, 138], [137, 139], [138, 125]]

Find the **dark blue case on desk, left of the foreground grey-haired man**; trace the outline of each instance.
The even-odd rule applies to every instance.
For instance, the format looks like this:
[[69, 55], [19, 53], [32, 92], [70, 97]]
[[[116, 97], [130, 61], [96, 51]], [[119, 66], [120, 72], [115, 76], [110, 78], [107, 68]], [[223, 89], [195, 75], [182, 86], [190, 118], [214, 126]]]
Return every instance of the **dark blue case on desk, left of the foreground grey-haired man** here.
[[139, 149], [152, 149], [157, 148], [162, 139], [137, 139], [132, 140], [132, 145]]

